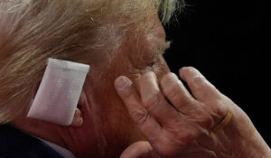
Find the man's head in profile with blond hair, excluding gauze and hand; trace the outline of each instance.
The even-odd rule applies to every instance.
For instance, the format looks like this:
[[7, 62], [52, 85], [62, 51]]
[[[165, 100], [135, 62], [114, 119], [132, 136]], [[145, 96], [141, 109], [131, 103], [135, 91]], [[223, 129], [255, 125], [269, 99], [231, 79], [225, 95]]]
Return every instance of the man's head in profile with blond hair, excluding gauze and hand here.
[[[149, 0], [11, 0], [0, 2], [0, 123], [61, 144], [81, 157], [119, 154], [144, 139], [117, 97], [119, 75], [139, 79], [168, 71], [163, 26], [176, 2]], [[91, 66], [79, 110], [83, 125], [26, 118], [48, 58]]]

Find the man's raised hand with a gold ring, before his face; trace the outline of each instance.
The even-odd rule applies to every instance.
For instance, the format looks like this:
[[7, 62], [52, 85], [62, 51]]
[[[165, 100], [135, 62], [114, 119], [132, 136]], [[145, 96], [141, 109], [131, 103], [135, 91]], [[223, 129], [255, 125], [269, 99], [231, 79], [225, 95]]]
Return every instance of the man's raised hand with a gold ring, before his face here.
[[153, 72], [146, 73], [139, 92], [130, 79], [116, 80], [118, 95], [147, 139], [130, 145], [121, 158], [262, 157], [270, 151], [248, 116], [198, 70], [182, 68], [180, 77], [192, 94], [173, 73], [160, 85]]

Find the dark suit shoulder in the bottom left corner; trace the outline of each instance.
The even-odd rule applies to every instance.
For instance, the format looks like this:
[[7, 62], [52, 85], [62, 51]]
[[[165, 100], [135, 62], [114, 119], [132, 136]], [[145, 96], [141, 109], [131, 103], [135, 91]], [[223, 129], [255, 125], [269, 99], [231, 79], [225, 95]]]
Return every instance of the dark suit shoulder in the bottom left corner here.
[[63, 158], [49, 145], [10, 125], [0, 125], [0, 158]]

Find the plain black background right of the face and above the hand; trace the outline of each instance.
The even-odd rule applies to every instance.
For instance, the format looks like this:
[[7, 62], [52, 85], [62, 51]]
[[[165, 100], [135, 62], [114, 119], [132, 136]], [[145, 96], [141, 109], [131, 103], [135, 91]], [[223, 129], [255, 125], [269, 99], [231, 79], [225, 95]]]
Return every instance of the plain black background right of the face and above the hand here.
[[182, 14], [165, 25], [171, 70], [193, 66], [241, 107], [271, 144], [270, 40], [267, 4], [259, 0], [186, 0]]

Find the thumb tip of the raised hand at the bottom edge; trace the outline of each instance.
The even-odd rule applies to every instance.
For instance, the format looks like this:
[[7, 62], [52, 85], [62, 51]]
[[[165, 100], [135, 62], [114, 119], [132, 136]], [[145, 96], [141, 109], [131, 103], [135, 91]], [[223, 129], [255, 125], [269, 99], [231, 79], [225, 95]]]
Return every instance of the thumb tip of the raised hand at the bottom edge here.
[[146, 141], [135, 142], [121, 153], [120, 158], [161, 158], [151, 144]]

